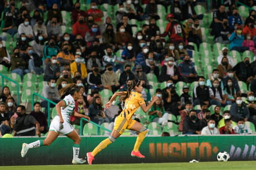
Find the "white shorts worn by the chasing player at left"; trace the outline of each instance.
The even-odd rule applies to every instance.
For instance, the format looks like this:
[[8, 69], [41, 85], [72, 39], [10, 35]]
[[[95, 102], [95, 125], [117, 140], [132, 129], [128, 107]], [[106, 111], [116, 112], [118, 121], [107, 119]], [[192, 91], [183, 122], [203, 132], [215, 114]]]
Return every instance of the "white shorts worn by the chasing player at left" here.
[[63, 134], [63, 135], [67, 135], [70, 134], [73, 130], [74, 127], [72, 125], [69, 124], [69, 122], [64, 121], [63, 123], [63, 129], [59, 129], [59, 116], [55, 116], [53, 121], [51, 121], [51, 125], [49, 127], [49, 130], [52, 130], [54, 132], [57, 132], [58, 134]]

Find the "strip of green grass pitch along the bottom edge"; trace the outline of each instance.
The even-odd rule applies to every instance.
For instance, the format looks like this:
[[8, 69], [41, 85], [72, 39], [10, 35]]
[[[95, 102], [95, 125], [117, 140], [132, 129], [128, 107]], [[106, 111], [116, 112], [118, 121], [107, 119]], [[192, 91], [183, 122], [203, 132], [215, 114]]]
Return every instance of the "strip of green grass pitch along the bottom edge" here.
[[200, 162], [200, 163], [141, 163], [141, 164], [83, 164], [83, 165], [47, 165], [47, 166], [0, 166], [0, 169], [26, 170], [63, 170], [63, 169], [256, 169], [256, 161]]

